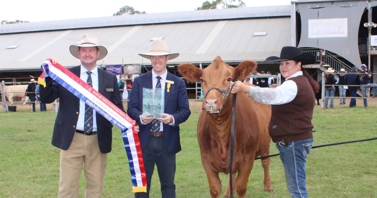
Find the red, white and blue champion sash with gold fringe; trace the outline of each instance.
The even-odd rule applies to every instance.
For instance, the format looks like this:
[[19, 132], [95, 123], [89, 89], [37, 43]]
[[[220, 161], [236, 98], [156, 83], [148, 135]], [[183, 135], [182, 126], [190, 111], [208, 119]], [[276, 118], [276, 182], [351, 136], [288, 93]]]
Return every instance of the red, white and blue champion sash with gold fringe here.
[[46, 74], [50, 76], [122, 130], [122, 138], [131, 172], [132, 192], [147, 192], [147, 180], [139, 136], [132, 129], [136, 125], [135, 121], [71, 71], [58, 63], [52, 64], [51, 59], [44, 61], [41, 69], [44, 76]]

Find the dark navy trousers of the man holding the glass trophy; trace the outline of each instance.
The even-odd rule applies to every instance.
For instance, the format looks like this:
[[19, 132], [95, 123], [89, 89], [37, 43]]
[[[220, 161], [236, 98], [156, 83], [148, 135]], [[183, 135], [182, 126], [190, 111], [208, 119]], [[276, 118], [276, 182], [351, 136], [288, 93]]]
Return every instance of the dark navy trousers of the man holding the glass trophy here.
[[167, 150], [164, 137], [154, 137], [150, 135], [147, 145], [142, 152], [147, 178], [147, 193], [135, 193], [135, 198], [149, 197], [150, 182], [152, 180], [155, 164], [161, 183], [162, 198], [175, 198], [175, 154], [172, 155]]

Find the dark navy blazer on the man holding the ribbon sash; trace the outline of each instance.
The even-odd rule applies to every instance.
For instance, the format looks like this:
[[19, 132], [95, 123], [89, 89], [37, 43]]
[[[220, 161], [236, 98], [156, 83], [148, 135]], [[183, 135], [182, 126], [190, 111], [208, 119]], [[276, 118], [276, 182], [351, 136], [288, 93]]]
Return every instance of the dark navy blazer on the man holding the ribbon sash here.
[[[70, 68], [69, 71], [80, 77], [80, 66]], [[113, 91], [106, 91], [106, 89], [112, 89]], [[124, 111], [116, 76], [99, 68], [98, 92]], [[80, 99], [52, 80], [52, 78], [46, 77], [46, 87], [43, 88], [41, 86], [40, 89], [41, 102], [52, 103], [57, 98], [59, 98], [59, 110], [55, 120], [51, 144], [67, 150], [75, 134], [80, 111]], [[111, 151], [113, 124], [98, 112], [96, 112], [96, 118], [98, 146], [101, 153], [109, 153]]]

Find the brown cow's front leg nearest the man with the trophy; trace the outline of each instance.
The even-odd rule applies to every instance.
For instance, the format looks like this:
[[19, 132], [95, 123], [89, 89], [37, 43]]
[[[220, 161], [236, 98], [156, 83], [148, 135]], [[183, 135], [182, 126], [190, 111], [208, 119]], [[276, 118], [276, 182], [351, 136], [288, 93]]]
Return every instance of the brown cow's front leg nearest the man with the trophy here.
[[211, 164], [208, 163], [208, 160], [202, 156], [202, 164], [205, 170], [205, 173], [207, 174], [208, 179], [208, 186], [210, 188], [210, 194], [212, 198], [218, 198], [221, 193], [221, 181], [219, 178], [219, 172], [216, 172], [211, 167]]

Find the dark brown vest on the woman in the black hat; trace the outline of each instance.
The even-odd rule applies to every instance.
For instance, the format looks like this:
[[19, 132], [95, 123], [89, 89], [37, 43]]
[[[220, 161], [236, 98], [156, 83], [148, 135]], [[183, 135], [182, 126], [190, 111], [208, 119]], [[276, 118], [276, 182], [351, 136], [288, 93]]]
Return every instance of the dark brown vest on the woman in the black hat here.
[[313, 138], [311, 119], [314, 109], [314, 91], [309, 80], [300, 75], [289, 78], [297, 84], [296, 97], [287, 104], [271, 105], [268, 131], [273, 142], [291, 142]]

